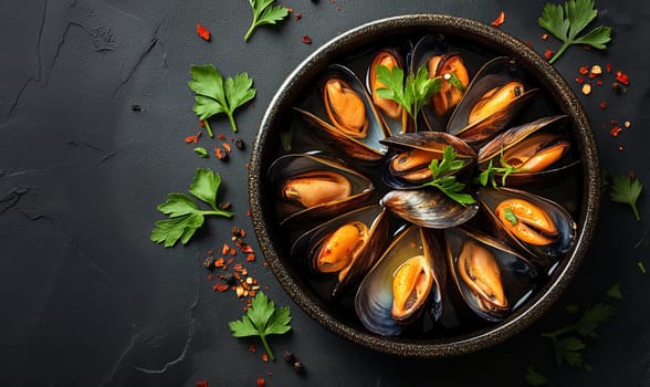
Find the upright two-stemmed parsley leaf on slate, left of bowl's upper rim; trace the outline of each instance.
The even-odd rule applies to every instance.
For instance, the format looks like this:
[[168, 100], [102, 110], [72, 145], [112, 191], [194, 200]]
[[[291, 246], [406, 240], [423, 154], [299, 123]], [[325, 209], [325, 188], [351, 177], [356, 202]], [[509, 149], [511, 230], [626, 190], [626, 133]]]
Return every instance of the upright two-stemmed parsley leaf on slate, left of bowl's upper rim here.
[[232, 132], [237, 132], [234, 123], [234, 109], [255, 97], [255, 90], [252, 87], [253, 80], [249, 74], [241, 73], [233, 77], [223, 80], [212, 64], [192, 65], [190, 67], [191, 81], [188, 86], [196, 95], [195, 113], [206, 124], [210, 137], [214, 137], [208, 118], [217, 114], [226, 114]]

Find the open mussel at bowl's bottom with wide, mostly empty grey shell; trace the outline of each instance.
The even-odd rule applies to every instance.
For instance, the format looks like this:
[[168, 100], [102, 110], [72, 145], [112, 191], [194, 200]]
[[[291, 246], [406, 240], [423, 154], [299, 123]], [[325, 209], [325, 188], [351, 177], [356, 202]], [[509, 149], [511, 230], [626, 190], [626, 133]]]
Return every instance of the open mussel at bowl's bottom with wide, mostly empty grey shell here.
[[432, 230], [409, 226], [364, 278], [355, 296], [357, 316], [368, 331], [385, 336], [400, 334], [424, 310], [438, 320], [445, 275], [438, 237]]

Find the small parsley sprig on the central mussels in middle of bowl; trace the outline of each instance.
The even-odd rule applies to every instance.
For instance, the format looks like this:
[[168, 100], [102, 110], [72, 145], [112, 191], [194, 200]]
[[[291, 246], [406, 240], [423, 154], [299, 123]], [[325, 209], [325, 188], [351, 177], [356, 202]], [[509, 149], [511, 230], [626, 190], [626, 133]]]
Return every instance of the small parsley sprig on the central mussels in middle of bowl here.
[[461, 169], [464, 165], [464, 161], [457, 160], [455, 156], [457, 153], [451, 146], [444, 147], [442, 159], [431, 160], [429, 165], [429, 169], [432, 172], [431, 181], [426, 182], [424, 186], [432, 186], [440, 189], [444, 195], [463, 206], [473, 205], [476, 200], [469, 194], [462, 194], [465, 185], [458, 181], [455, 176], [447, 175], [450, 171]]

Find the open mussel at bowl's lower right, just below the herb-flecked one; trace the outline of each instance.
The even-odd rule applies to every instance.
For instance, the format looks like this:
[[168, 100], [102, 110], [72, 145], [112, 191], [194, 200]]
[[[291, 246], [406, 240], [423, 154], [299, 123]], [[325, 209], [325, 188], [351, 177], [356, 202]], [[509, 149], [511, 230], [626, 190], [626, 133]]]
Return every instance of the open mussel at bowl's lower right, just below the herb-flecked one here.
[[466, 305], [499, 322], [532, 294], [537, 270], [501, 240], [469, 228], [444, 230], [447, 260]]

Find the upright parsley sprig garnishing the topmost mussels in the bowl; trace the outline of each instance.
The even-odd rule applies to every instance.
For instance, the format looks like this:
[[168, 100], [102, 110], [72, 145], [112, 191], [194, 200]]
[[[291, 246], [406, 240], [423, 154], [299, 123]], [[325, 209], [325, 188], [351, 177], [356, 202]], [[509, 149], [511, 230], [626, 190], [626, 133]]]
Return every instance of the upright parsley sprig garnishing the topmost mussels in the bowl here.
[[400, 67], [388, 69], [379, 65], [377, 66], [377, 77], [387, 86], [378, 88], [377, 94], [382, 98], [392, 100], [403, 107], [412, 118], [417, 132], [418, 114], [433, 94], [440, 91], [442, 79], [439, 76], [430, 79], [426, 65], [421, 65], [415, 75], [409, 73], [406, 81], [403, 70]]

